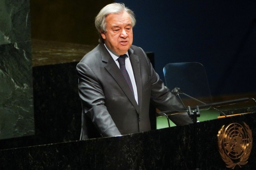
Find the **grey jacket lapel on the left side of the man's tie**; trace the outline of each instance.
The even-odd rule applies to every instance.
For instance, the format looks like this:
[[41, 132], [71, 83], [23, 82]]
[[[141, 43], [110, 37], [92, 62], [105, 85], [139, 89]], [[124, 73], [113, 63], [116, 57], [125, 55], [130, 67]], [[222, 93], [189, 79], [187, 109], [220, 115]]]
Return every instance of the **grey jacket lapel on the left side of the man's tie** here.
[[[139, 112], [139, 107], [138, 104], [133, 96], [133, 94], [130, 91], [130, 88], [123, 77], [121, 71], [119, 70], [117, 64], [111, 57], [110, 53], [107, 51], [105, 48], [104, 44], [100, 44], [99, 48], [101, 48], [101, 56], [102, 56], [102, 61], [106, 62], [106, 70], [111, 74], [111, 76], [115, 79], [115, 81], [119, 84], [121, 87], [122, 91], [126, 94], [130, 102], [134, 105], [135, 109], [137, 112]], [[137, 85], [137, 84], [136, 84]]]

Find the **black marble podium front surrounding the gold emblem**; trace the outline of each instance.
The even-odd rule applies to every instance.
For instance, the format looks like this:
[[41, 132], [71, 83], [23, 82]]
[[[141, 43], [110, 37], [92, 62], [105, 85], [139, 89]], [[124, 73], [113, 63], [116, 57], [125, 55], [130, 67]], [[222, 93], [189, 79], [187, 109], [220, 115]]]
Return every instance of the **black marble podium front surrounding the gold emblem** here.
[[[229, 169], [217, 134], [223, 125], [245, 122], [254, 137], [256, 108], [246, 110], [251, 113], [120, 137], [1, 150], [0, 169]], [[254, 169], [254, 143], [248, 163], [234, 169]]]

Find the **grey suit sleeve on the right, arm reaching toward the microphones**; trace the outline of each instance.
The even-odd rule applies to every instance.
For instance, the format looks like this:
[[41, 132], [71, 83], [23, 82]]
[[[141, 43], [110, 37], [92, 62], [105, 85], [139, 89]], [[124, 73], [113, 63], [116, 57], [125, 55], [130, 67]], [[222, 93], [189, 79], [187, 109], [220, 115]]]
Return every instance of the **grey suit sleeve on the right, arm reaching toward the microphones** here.
[[[164, 85], [163, 81], [159, 78], [159, 75], [153, 69], [150, 60], [147, 57], [146, 60], [150, 68], [151, 102], [161, 111], [175, 111], [178, 108], [183, 108], [183, 105], [179, 102], [176, 95], [172, 94], [170, 90]], [[193, 123], [192, 119], [186, 112], [171, 115], [169, 118], [176, 125]]]

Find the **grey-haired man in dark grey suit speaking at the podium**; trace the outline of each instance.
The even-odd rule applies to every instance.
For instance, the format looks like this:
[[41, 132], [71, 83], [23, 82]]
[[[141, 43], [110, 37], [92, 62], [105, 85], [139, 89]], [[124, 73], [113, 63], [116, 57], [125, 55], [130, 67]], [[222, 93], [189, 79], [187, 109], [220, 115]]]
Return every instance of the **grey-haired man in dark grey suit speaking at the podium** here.
[[[78, 63], [82, 100], [80, 139], [151, 130], [150, 101], [161, 111], [182, 107], [164, 86], [145, 52], [132, 45], [133, 11], [122, 3], [105, 6], [95, 18], [99, 45]], [[175, 120], [192, 123], [188, 114]]]

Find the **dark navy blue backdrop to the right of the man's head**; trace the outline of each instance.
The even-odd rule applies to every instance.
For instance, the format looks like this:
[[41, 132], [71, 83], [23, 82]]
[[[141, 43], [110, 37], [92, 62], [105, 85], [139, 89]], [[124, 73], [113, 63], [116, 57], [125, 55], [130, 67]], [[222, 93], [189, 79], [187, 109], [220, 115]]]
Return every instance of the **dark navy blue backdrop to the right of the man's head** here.
[[155, 68], [200, 62], [212, 95], [255, 93], [256, 1], [122, 0], [134, 10], [134, 45], [155, 53]]

